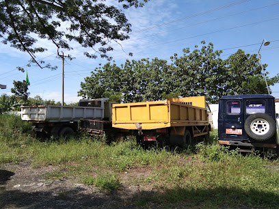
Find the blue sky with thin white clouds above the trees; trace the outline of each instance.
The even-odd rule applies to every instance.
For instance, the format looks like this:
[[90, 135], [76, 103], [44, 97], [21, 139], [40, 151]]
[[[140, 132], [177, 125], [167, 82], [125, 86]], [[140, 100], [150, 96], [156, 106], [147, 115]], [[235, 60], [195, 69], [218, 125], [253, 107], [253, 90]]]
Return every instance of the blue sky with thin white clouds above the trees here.
[[[114, 0], [107, 2], [115, 3]], [[124, 64], [126, 59], [170, 60], [177, 53], [182, 55], [183, 48], [193, 49], [202, 40], [214, 44], [215, 50], [223, 50], [222, 59], [241, 48], [245, 53], [258, 53], [263, 39], [270, 41], [262, 46], [263, 64], [268, 64], [270, 76], [279, 73], [279, 1], [265, 0], [150, 0], [144, 8], [123, 10], [132, 25], [130, 39], [122, 42], [122, 48], [114, 44], [115, 50], [109, 54], [116, 64]], [[64, 25], [66, 26], [66, 25]], [[43, 99], [62, 100], [62, 60], [57, 58], [57, 48], [47, 40], [40, 40], [39, 46], [48, 46], [49, 51], [36, 55], [37, 59], [58, 66], [57, 70], [38, 66], [27, 68], [30, 96]], [[66, 60], [64, 66], [64, 102], [77, 102], [77, 92], [85, 76], [107, 60], [88, 59], [83, 55], [85, 48], [72, 44], [72, 55], [76, 59]], [[127, 53], [133, 53], [129, 57]], [[61, 53], [61, 51], [60, 51]], [[16, 70], [26, 66], [30, 57], [8, 45], [0, 44], [0, 83], [7, 89], [0, 94], [10, 94], [13, 81], [23, 81], [25, 73]], [[272, 95], [279, 98], [279, 85], [271, 87]]]

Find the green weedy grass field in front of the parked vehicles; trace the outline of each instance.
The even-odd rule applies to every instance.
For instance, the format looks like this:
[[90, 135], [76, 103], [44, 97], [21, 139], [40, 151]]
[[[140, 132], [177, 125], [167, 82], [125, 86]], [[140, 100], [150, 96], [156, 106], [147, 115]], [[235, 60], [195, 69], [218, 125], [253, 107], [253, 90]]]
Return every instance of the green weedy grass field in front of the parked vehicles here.
[[53, 165], [48, 181], [73, 178], [101, 191], [136, 186], [127, 201], [145, 208], [279, 206], [279, 160], [228, 150], [218, 145], [217, 130], [189, 150], [143, 150], [134, 137], [111, 145], [88, 135], [40, 142], [14, 116], [0, 116], [0, 163]]

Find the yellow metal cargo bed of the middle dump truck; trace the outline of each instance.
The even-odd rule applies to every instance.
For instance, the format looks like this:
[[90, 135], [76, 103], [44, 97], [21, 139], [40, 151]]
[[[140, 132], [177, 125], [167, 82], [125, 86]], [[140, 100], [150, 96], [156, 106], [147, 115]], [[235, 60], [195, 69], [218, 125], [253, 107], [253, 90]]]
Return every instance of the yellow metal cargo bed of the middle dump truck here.
[[[193, 99], [196, 97], [193, 97]], [[193, 106], [191, 100], [176, 98], [157, 102], [113, 104], [112, 126], [128, 130], [168, 128], [172, 126], [207, 126], [209, 124], [205, 97]]]

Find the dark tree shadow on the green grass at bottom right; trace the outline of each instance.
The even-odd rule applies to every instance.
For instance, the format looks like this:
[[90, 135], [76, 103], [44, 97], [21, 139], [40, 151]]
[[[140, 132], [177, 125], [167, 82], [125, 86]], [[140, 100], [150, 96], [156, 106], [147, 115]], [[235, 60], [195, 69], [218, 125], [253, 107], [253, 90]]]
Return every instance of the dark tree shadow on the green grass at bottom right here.
[[133, 202], [144, 208], [278, 208], [279, 195], [252, 189], [170, 189], [141, 192]]

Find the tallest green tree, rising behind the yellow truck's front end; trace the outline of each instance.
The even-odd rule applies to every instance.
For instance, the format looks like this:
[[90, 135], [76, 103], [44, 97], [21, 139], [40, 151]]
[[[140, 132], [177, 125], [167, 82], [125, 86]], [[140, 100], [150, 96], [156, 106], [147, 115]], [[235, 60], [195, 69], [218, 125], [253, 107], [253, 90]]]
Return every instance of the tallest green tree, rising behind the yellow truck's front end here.
[[183, 56], [174, 54], [174, 75], [176, 89], [181, 96], [207, 96], [209, 102], [216, 102], [224, 92], [224, 61], [220, 58], [222, 51], [214, 51], [213, 44], [201, 42], [199, 49], [195, 46], [194, 51], [189, 48], [183, 49]]

